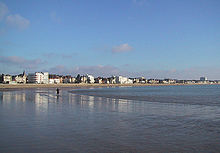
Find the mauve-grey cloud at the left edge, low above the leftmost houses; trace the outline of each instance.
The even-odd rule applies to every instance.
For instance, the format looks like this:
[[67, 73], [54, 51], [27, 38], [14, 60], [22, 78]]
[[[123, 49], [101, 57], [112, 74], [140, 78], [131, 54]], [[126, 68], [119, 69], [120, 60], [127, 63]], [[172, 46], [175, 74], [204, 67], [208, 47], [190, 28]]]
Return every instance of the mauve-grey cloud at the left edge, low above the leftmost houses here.
[[28, 60], [19, 56], [0, 56], [0, 63], [23, 69], [36, 69], [39, 65], [45, 64], [40, 59]]

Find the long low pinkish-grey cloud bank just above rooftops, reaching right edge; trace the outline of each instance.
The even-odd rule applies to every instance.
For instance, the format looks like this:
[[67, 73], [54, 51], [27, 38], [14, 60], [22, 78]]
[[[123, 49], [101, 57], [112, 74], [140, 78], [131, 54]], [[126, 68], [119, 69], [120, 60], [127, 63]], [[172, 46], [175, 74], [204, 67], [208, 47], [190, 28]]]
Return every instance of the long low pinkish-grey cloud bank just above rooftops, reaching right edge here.
[[47, 69], [49, 73], [55, 74], [91, 74], [95, 77], [103, 76], [110, 77], [112, 75], [122, 75], [127, 77], [140, 77], [143, 76], [147, 79], [189, 79], [198, 80], [201, 76], [206, 76], [210, 80], [220, 80], [220, 68], [217, 67], [194, 67], [186, 69], [170, 69], [170, 70], [146, 70], [146, 71], [126, 71], [122, 68], [111, 65], [93, 65], [93, 66], [77, 66], [66, 67], [64, 65], [57, 65]]

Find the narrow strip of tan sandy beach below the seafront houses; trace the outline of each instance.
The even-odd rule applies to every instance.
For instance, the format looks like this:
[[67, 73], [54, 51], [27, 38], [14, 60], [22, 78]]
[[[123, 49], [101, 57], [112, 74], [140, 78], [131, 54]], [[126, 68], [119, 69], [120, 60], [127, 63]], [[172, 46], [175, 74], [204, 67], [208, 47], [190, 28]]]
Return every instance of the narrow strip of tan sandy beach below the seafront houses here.
[[139, 87], [139, 86], [185, 86], [185, 85], [220, 85], [220, 84], [0, 84], [1, 89], [26, 88], [78, 88], [78, 87]]

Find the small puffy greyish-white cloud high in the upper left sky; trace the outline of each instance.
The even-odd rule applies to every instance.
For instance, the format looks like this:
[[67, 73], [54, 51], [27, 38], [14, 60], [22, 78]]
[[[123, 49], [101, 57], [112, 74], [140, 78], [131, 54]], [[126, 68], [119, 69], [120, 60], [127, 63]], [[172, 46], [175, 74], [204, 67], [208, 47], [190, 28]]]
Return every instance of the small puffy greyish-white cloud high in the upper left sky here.
[[19, 14], [7, 16], [6, 23], [18, 29], [26, 29], [30, 25], [30, 21]]

